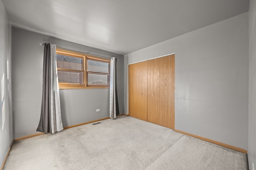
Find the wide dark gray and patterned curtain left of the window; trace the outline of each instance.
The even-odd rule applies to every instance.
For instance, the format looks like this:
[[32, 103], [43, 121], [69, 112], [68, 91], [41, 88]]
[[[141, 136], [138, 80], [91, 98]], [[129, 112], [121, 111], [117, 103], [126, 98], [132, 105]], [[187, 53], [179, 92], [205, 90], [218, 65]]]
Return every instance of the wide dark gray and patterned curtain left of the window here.
[[62, 129], [56, 45], [45, 43], [41, 117], [36, 131], [47, 134], [55, 133]]

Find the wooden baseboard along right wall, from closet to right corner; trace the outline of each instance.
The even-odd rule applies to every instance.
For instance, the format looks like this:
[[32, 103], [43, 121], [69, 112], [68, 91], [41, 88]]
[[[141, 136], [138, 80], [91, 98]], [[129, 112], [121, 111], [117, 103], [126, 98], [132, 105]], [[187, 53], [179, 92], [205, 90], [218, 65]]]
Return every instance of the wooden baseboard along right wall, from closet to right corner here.
[[184, 132], [184, 131], [180, 131], [178, 129], [174, 129], [174, 131], [176, 132], [179, 132], [179, 133], [183, 133], [184, 135], [188, 135], [188, 136], [191, 136], [191, 137], [195, 137], [197, 139], [201, 139], [203, 141], [207, 141], [207, 142], [210, 142], [210, 143], [214, 143], [216, 145], [220, 145], [222, 147], [226, 147], [226, 148], [229, 148], [229, 149], [233, 149], [233, 150], [236, 150], [236, 151], [239, 151], [239, 152], [243, 152], [245, 154], [247, 154], [248, 150], [246, 149], [242, 149], [242, 148], [238, 148], [238, 147], [234, 147], [232, 145], [228, 145], [226, 143], [222, 143], [222, 142], [218, 142], [218, 141], [214, 141], [212, 139], [208, 139], [208, 138], [205, 138], [205, 137], [201, 137], [201, 136], [198, 136], [198, 135], [193, 135], [191, 133], [187, 133], [187, 132]]

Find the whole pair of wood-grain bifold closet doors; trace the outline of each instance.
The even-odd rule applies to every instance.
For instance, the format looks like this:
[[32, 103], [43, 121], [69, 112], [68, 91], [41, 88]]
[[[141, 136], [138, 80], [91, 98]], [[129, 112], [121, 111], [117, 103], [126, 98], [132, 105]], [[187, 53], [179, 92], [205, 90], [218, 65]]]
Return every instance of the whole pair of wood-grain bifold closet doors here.
[[129, 115], [174, 129], [174, 71], [174, 55], [130, 64]]

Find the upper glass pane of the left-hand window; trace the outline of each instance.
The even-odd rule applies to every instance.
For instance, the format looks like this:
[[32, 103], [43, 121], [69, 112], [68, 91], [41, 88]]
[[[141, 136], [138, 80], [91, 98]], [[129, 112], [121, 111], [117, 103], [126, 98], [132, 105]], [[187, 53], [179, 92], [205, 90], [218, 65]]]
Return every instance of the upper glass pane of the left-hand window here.
[[56, 54], [57, 67], [72, 70], [83, 70], [83, 59]]

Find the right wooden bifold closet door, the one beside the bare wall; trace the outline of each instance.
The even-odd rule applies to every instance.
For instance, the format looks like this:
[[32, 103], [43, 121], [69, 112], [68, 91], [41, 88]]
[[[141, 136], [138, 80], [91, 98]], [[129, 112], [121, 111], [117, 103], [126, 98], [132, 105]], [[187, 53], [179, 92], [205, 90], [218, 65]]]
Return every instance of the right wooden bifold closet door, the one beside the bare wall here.
[[148, 61], [149, 122], [174, 129], [174, 86], [174, 55], [168, 55]]

